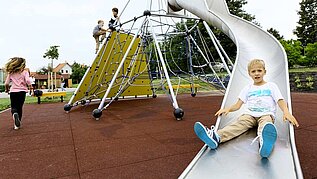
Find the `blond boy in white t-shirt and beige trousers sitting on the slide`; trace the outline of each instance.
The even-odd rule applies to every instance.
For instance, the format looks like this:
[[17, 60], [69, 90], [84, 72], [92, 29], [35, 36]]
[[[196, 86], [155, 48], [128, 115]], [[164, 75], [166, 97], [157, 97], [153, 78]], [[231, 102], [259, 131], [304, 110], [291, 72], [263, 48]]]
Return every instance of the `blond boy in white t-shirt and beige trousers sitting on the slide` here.
[[232, 124], [219, 129], [217, 132], [212, 126], [205, 127], [196, 122], [194, 130], [196, 135], [211, 149], [216, 149], [219, 143], [235, 138], [248, 129], [258, 126], [257, 135], [260, 138], [259, 153], [261, 157], [269, 157], [276, 138], [277, 130], [274, 125], [276, 106], [283, 111], [283, 120], [288, 120], [298, 127], [295, 117], [289, 112], [287, 104], [275, 83], [264, 81], [266, 74], [263, 60], [254, 59], [248, 64], [248, 73], [253, 80], [243, 88], [238, 96], [238, 101], [229, 107], [218, 110], [215, 116], [227, 115], [229, 112], [239, 110], [242, 104], [247, 106], [246, 111]]

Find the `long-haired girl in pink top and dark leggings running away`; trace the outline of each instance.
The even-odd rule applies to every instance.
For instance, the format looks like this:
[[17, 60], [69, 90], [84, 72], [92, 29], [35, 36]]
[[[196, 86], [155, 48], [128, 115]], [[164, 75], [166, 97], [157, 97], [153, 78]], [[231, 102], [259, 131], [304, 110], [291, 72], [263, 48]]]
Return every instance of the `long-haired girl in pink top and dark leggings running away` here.
[[21, 127], [22, 108], [28, 86], [32, 88], [29, 73], [24, 68], [25, 59], [20, 57], [11, 58], [5, 66], [5, 70], [8, 73], [5, 81], [5, 90], [10, 94], [11, 114], [15, 130]]

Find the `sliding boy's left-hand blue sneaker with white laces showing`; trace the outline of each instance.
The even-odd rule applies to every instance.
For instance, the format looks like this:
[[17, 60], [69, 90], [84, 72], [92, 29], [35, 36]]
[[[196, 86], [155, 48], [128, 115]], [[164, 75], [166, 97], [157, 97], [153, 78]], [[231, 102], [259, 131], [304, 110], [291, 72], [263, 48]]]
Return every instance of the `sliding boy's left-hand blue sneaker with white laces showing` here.
[[200, 122], [196, 122], [194, 125], [194, 130], [198, 138], [207, 144], [209, 148], [216, 149], [218, 147], [220, 137], [215, 132], [213, 126], [211, 126], [211, 129], [208, 129]]

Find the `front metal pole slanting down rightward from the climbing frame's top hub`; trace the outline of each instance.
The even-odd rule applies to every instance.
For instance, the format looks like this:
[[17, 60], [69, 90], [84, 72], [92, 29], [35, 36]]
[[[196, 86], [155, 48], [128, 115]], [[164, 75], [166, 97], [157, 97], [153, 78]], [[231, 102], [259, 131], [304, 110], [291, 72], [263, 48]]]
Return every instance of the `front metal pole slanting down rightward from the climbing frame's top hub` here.
[[169, 78], [169, 75], [168, 75], [168, 72], [167, 72], [167, 68], [166, 68], [166, 64], [165, 64], [165, 61], [163, 59], [163, 54], [162, 54], [162, 51], [160, 49], [159, 43], [157, 41], [157, 38], [156, 38], [156, 35], [155, 35], [155, 31], [154, 31], [154, 27], [153, 27], [151, 21], [150, 21], [150, 27], [151, 27], [151, 30], [152, 30], [152, 36], [153, 36], [153, 39], [154, 39], [154, 42], [155, 42], [156, 49], [157, 49], [160, 61], [162, 63], [162, 67], [163, 67], [163, 71], [164, 71], [164, 74], [165, 74], [165, 77], [166, 77], [168, 88], [169, 88], [170, 94], [171, 94], [172, 99], [173, 99], [173, 107], [175, 109], [177, 109], [179, 107], [178, 107], [178, 104], [177, 104], [177, 101], [176, 101], [176, 97], [175, 97], [175, 94], [174, 94], [174, 91], [173, 91], [172, 83], [171, 83], [171, 80]]

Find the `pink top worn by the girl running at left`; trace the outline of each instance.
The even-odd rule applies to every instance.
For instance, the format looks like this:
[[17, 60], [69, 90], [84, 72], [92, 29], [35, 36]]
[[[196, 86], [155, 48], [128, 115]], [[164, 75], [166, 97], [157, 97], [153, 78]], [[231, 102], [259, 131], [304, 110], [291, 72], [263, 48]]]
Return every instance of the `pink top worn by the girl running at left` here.
[[5, 84], [8, 85], [11, 82], [10, 92], [28, 91], [27, 84], [31, 85], [29, 73], [23, 71], [21, 73], [8, 74]]

